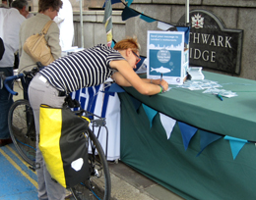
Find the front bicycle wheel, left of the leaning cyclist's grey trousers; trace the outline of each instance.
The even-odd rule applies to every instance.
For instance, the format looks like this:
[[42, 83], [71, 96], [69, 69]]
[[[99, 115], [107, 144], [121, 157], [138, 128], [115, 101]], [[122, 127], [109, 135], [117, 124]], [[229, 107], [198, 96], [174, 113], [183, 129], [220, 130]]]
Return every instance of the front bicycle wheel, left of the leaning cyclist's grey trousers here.
[[8, 113], [9, 131], [22, 158], [32, 167], [35, 165], [35, 127], [32, 108], [28, 100], [13, 103]]

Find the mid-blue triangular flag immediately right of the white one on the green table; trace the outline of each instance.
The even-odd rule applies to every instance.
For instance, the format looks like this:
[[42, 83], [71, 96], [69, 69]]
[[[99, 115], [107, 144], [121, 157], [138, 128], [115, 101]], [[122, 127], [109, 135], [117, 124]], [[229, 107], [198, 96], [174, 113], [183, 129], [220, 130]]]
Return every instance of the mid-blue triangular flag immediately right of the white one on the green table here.
[[183, 144], [185, 147], [185, 150], [187, 150], [187, 147], [189, 145], [189, 142], [191, 138], [194, 136], [194, 134], [197, 131], [197, 128], [191, 125], [186, 125], [184, 123], [178, 122], [179, 129], [181, 131]]

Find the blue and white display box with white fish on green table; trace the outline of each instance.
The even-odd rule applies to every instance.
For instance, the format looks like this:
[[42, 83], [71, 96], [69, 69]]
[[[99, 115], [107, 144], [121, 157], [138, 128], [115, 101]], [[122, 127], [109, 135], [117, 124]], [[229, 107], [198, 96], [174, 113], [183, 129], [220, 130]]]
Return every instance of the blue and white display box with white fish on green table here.
[[148, 78], [162, 78], [169, 84], [183, 84], [188, 68], [184, 32], [148, 31]]

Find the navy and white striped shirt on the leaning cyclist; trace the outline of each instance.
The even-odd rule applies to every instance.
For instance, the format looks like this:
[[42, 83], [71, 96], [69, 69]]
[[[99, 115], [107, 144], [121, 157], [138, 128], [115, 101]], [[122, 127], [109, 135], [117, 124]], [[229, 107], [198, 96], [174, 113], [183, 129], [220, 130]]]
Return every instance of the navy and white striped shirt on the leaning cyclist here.
[[124, 60], [121, 54], [103, 44], [62, 57], [39, 72], [60, 91], [70, 93], [83, 87], [103, 83], [116, 71], [109, 66], [112, 60]]

